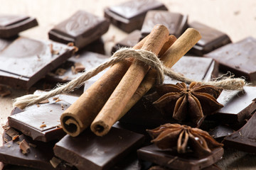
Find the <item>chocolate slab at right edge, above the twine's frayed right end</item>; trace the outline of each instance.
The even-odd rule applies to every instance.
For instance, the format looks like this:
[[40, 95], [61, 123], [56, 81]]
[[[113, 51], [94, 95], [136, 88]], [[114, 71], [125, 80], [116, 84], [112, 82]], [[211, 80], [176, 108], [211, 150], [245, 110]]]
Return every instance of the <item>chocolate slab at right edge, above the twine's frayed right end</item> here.
[[204, 57], [211, 57], [220, 63], [220, 70], [230, 71], [235, 77], [256, 80], [256, 39], [249, 37], [239, 42], [225, 45]]

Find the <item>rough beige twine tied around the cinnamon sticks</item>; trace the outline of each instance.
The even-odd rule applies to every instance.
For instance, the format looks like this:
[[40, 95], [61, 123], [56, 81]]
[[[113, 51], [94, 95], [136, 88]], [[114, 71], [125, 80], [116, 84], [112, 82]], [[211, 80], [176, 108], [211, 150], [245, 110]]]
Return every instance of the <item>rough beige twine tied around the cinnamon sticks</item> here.
[[[112, 57], [110, 57], [110, 60], [108, 60], [107, 62], [100, 64], [100, 66], [96, 67], [95, 69], [84, 72], [80, 75], [80, 77], [73, 79], [67, 84], [58, 84], [55, 89], [48, 91], [44, 94], [28, 94], [26, 96], [15, 98], [14, 106], [17, 106], [18, 108], [25, 108], [26, 106], [37, 104], [58, 94], [68, 94], [69, 92], [74, 91], [75, 89], [82, 86], [84, 84], [84, 81], [102, 72], [102, 70], [110, 67], [112, 64], [120, 62], [129, 57], [134, 57], [134, 59], [142, 61], [146, 65], [149, 65], [151, 68], [156, 69], [159, 77], [156, 82], [157, 84], [163, 83], [164, 74], [171, 77], [172, 79], [183, 81], [186, 84], [190, 84], [192, 81], [194, 81], [193, 79], [183, 77], [181, 74], [178, 74], [169, 69], [168, 67], [165, 67], [164, 64], [159, 60], [156, 55], [154, 55], [153, 52], [146, 50], [134, 50], [132, 48], [122, 48], [117, 52], [114, 52]], [[201, 81], [201, 83], [223, 87], [223, 89], [240, 90], [243, 88], [243, 86], [245, 86], [245, 79], [234, 79], [233, 76], [230, 76], [220, 81], [216, 79], [215, 81]]]

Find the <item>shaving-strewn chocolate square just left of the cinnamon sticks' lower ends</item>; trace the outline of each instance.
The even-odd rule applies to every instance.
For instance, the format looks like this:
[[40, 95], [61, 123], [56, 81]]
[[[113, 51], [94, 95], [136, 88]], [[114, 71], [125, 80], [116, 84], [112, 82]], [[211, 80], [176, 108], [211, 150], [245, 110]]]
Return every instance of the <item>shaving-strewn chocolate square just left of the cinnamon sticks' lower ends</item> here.
[[60, 125], [60, 115], [77, 98], [60, 95], [58, 102], [51, 100], [50, 103], [26, 108], [26, 111], [9, 116], [9, 126], [20, 130], [24, 135], [32, 137], [33, 140], [48, 142], [61, 139], [65, 132]]

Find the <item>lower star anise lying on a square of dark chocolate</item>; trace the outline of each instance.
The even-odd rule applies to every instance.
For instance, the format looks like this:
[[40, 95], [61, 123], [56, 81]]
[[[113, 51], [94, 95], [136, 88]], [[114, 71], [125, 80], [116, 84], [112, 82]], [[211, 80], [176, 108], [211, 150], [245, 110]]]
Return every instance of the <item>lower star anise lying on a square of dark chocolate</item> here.
[[208, 132], [187, 125], [166, 123], [159, 128], [147, 130], [154, 140], [154, 144], [160, 149], [176, 148], [178, 153], [193, 152], [196, 156], [210, 154], [223, 144], [216, 142]]

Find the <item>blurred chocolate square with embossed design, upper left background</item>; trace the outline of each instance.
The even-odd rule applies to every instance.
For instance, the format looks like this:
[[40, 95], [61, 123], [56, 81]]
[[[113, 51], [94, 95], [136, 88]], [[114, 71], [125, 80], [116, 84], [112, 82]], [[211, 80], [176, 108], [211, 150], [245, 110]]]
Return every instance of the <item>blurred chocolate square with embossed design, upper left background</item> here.
[[110, 23], [105, 18], [86, 11], [77, 11], [51, 29], [48, 35], [50, 40], [65, 44], [73, 42], [76, 47], [82, 48], [99, 39], [109, 26]]

